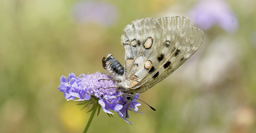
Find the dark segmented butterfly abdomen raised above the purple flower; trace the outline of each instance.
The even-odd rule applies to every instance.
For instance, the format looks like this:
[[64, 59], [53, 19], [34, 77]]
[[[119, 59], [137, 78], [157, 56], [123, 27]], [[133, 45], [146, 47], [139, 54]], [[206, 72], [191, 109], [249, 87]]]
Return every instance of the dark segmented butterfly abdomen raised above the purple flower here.
[[102, 59], [102, 65], [109, 72], [121, 76], [124, 75], [124, 67], [111, 54], [107, 56], [107, 59], [105, 57]]

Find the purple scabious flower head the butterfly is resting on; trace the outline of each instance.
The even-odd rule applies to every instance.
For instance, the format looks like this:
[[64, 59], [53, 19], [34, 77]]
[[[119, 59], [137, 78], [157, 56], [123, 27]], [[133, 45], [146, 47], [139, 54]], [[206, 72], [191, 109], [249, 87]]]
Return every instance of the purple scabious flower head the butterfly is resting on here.
[[[75, 98], [78, 98], [75, 101], [86, 101], [92, 100], [93, 98], [97, 99], [104, 112], [113, 114], [109, 110], [111, 109], [117, 112], [119, 117], [131, 124], [131, 122], [124, 118], [126, 116], [128, 103], [124, 104], [126, 101], [123, 96], [116, 97], [122, 94], [122, 92], [117, 92], [116, 88], [109, 88], [115, 86], [114, 81], [100, 79], [111, 79], [111, 77], [107, 74], [100, 74], [100, 72], [88, 75], [81, 74], [78, 77], [71, 73], [68, 75], [68, 79], [65, 76], [61, 76], [58, 89], [60, 92], [64, 93], [64, 97], [67, 100], [74, 100]], [[136, 94], [134, 97], [138, 98], [139, 94]], [[137, 99], [134, 99], [130, 102], [128, 110], [135, 110], [134, 112], [138, 111], [137, 106], [140, 106], [141, 104], [136, 100]], [[128, 113], [127, 118], [129, 118]]]

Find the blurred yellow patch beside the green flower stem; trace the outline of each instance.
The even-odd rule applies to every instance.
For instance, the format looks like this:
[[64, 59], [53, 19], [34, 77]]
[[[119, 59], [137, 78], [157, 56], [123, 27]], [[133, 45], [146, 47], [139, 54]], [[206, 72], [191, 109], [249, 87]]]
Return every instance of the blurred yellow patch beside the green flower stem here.
[[85, 109], [80, 110], [84, 106], [76, 105], [77, 103], [78, 101], [66, 101], [59, 108], [60, 120], [70, 132], [83, 131], [90, 117]]

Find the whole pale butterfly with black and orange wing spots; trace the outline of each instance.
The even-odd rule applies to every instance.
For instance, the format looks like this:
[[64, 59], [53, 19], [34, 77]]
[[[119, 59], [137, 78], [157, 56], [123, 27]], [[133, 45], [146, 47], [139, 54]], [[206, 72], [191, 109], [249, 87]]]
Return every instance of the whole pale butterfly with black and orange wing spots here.
[[[123, 31], [124, 67], [111, 54], [103, 67], [115, 80], [118, 92], [127, 102], [172, 74], [203, 42], [203, 32], [189, 26], [187, 17], [142, 18]], [[128, 105], [129, 106], [129, 105]], [[128, 108], [128, 107], [127, 107]]]

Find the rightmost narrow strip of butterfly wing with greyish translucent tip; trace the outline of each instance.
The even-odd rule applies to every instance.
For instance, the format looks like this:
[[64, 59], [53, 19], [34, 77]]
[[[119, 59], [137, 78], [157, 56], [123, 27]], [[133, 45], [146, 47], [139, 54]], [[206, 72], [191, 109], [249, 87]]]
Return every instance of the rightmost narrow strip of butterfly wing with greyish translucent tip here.
[[137, 93], [142, 93], [153, 87], [158, 82], [162, 81], [168, 75], [172, 74], [178, 67], [180, 67], [190, 56], [192, 56], [203, 42], [203, 32], [196, 27], [189, 27], [185, 37], [182, 39], [178, 49], [173, 52], [169, 61], [145, 84], [136, 89]]

